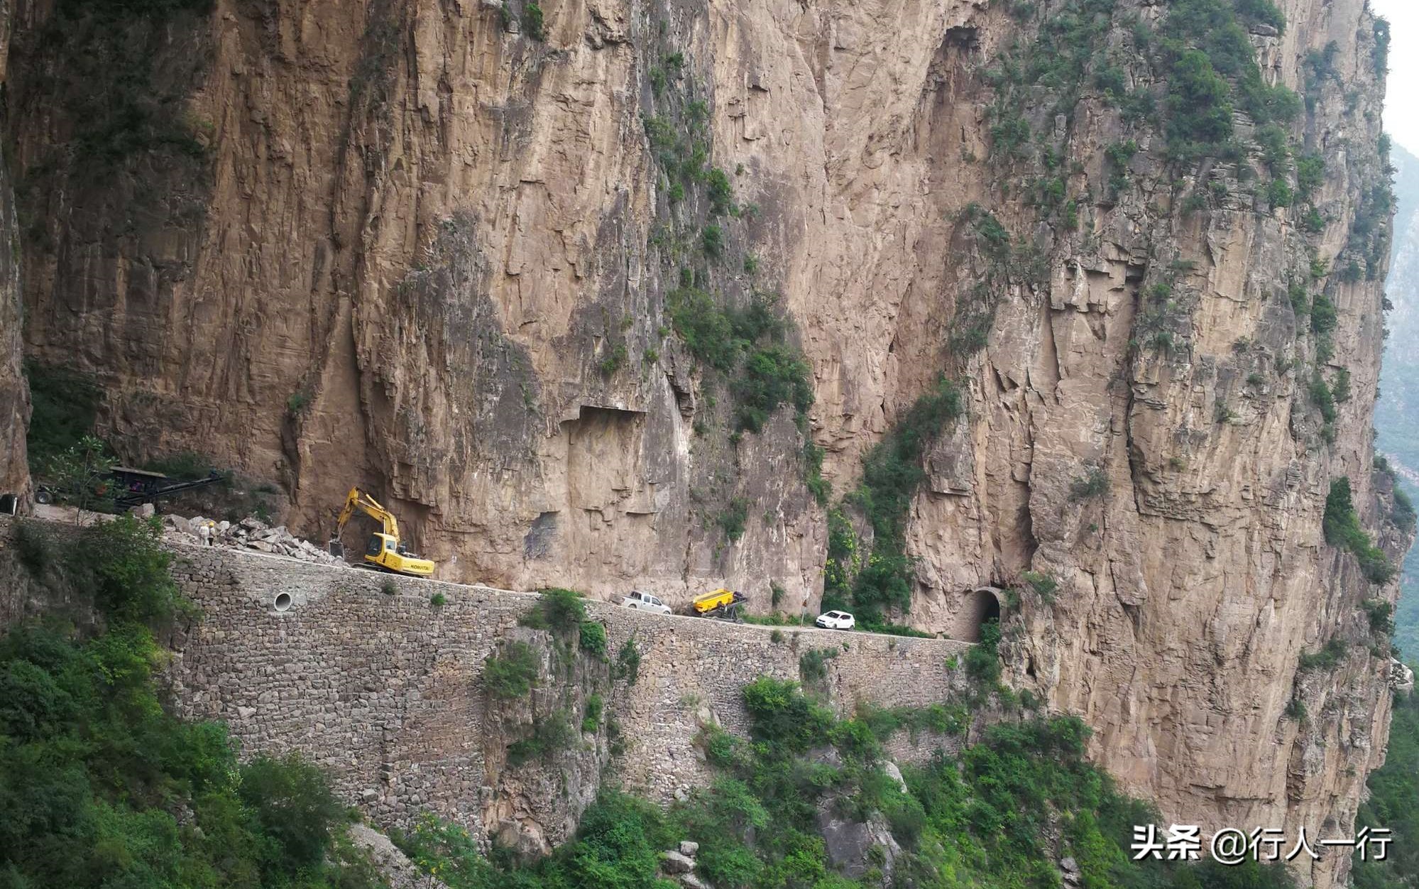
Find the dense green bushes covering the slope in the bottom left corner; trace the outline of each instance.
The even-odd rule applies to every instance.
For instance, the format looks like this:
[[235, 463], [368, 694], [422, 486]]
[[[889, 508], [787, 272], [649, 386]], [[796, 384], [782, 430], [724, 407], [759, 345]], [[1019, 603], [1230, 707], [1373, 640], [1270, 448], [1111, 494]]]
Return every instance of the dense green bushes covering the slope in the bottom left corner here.
[[26, 562], [62, 565], [55, 582], [102, 629], [0, 638], [0, 885], [375, 889], [319, 770], [297, 756], [240, 765], [224, 726], [163, 710], [150, 623], [192, 609], [158, 540], [121, 518]]

